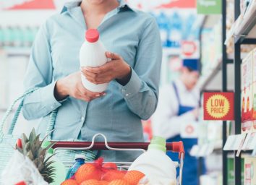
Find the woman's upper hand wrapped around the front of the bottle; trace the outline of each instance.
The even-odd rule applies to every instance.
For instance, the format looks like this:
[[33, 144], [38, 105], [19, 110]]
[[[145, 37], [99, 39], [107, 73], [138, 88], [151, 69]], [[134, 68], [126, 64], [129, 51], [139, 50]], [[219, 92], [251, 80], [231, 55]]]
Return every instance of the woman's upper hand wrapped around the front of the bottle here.
[[82, 67], [82, 74], [85, 75], [88, 81], [94, 84], [103, 84], [117, 79], [119, 82], [127, 83], [131, 73], [129, 64], [127, 64], [121, 56], [116, 53], [106, 52], [106, 57], [111, 59], [103, 66], [98, 67]]

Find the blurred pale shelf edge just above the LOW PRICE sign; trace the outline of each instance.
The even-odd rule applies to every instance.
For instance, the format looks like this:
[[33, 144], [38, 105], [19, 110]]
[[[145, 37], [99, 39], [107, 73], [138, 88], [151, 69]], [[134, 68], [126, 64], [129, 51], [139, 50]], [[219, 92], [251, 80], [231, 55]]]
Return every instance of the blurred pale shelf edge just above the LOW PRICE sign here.
[[211, 82], [212, 79], [216, 76], [216, 74], [221, 70], [221, 60], [218, 60], [216, 66], [208, 72], [207, 76], [201, 76], [198, 81], [198, 88], [200, 90], [204, 90], [205, 87]]

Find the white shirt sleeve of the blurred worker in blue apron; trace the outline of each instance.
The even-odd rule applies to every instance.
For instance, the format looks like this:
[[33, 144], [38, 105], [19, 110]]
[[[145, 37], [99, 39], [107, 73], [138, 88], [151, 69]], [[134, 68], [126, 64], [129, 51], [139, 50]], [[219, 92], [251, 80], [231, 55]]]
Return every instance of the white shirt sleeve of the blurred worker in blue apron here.
[[178, 101], [174, 89], [169, 87], [161, 89], [158, 101], [158, 108], [152, 117], [153, 134], [166, 139], [181, 134], [182, 123], [195, 121], [195, 116], [191, 111], [177, 116]]

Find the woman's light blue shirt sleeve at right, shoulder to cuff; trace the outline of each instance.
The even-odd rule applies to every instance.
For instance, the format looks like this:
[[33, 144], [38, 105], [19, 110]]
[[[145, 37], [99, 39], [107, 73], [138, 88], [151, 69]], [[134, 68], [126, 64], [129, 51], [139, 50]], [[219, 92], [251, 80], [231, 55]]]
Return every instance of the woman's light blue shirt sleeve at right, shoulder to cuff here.
[[146, 120], [152, 116], [158, 103], [162, 47], [153, 17], [142, 32], [131, 78], [121, 87], [121, 93], [130, 111]]

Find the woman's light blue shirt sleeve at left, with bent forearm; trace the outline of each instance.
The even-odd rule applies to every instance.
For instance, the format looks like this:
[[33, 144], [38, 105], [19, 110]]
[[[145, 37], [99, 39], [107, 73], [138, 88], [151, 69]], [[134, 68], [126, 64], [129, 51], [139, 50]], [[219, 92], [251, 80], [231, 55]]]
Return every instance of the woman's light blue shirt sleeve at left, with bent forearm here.
[[25, 97], [23, 104], [25, 119], [38, 119], [61, 106], [61, 102], [58, 102], [54, 97], [55, 84], [56, 82], [53, 81], [51, 46], [46, 24], [44, 24], [40, 27], [33, 43], [25, 75], [25, 90], [39, 87], [38, 90]]

